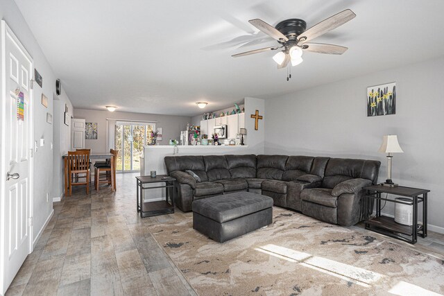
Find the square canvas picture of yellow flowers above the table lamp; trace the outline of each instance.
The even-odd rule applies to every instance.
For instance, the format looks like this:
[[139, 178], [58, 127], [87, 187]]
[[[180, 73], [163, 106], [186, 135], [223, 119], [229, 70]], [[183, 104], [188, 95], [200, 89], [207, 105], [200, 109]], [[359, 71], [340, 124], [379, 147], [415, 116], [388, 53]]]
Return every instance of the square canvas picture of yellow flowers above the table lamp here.
[[396, 82], [367, 87], [367, 116], [396, 114]]

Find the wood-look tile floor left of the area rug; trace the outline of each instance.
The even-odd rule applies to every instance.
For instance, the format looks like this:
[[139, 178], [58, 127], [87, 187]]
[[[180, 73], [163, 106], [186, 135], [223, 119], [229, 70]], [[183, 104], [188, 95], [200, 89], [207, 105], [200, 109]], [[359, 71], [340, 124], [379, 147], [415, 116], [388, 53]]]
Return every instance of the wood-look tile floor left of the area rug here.
[[196, 295], [146, 227], [171, 216], [137, 215], [136, 175], [117, 174], [116, 193], [77, 186], [55, 202], [6, 295]]

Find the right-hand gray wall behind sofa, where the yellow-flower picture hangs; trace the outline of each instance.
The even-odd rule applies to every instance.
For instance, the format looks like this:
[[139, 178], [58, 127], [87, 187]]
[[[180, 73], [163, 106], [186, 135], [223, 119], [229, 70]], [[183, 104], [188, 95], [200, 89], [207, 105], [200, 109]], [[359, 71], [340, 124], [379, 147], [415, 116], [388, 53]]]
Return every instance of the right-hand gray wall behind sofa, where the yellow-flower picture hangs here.
[[[384, 134], [397, 134], [404, 153], [393, 157], [392, 179], [431, 190], [430, 229], [444, 232], [443, 81], [439, 58], [266, 100], [266, 153], [377, 159], [383, 182], [377, 150]], [[396, 114], [367, 117], [367, 87], [386, 82], [396, 82]]]

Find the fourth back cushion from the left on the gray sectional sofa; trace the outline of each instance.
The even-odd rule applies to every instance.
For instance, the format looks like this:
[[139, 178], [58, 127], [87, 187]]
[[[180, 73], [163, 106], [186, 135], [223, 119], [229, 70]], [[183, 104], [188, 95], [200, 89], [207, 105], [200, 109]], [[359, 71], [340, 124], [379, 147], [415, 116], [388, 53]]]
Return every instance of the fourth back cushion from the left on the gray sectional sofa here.
[[288, 158], [287, 155], [257, 155], [256, 177], [282, 180]]

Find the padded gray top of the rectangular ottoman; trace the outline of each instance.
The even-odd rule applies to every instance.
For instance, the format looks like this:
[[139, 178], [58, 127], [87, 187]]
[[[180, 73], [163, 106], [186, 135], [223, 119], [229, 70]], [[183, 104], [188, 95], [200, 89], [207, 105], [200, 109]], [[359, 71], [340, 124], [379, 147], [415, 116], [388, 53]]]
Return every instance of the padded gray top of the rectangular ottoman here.
[[250, 192], [235, 192], [221, 197], [205, 198], [196, 200], [192, 204], [193, 212], [218, 223], [225, 223], [270, 207], [273, 207], [272, 198]]

